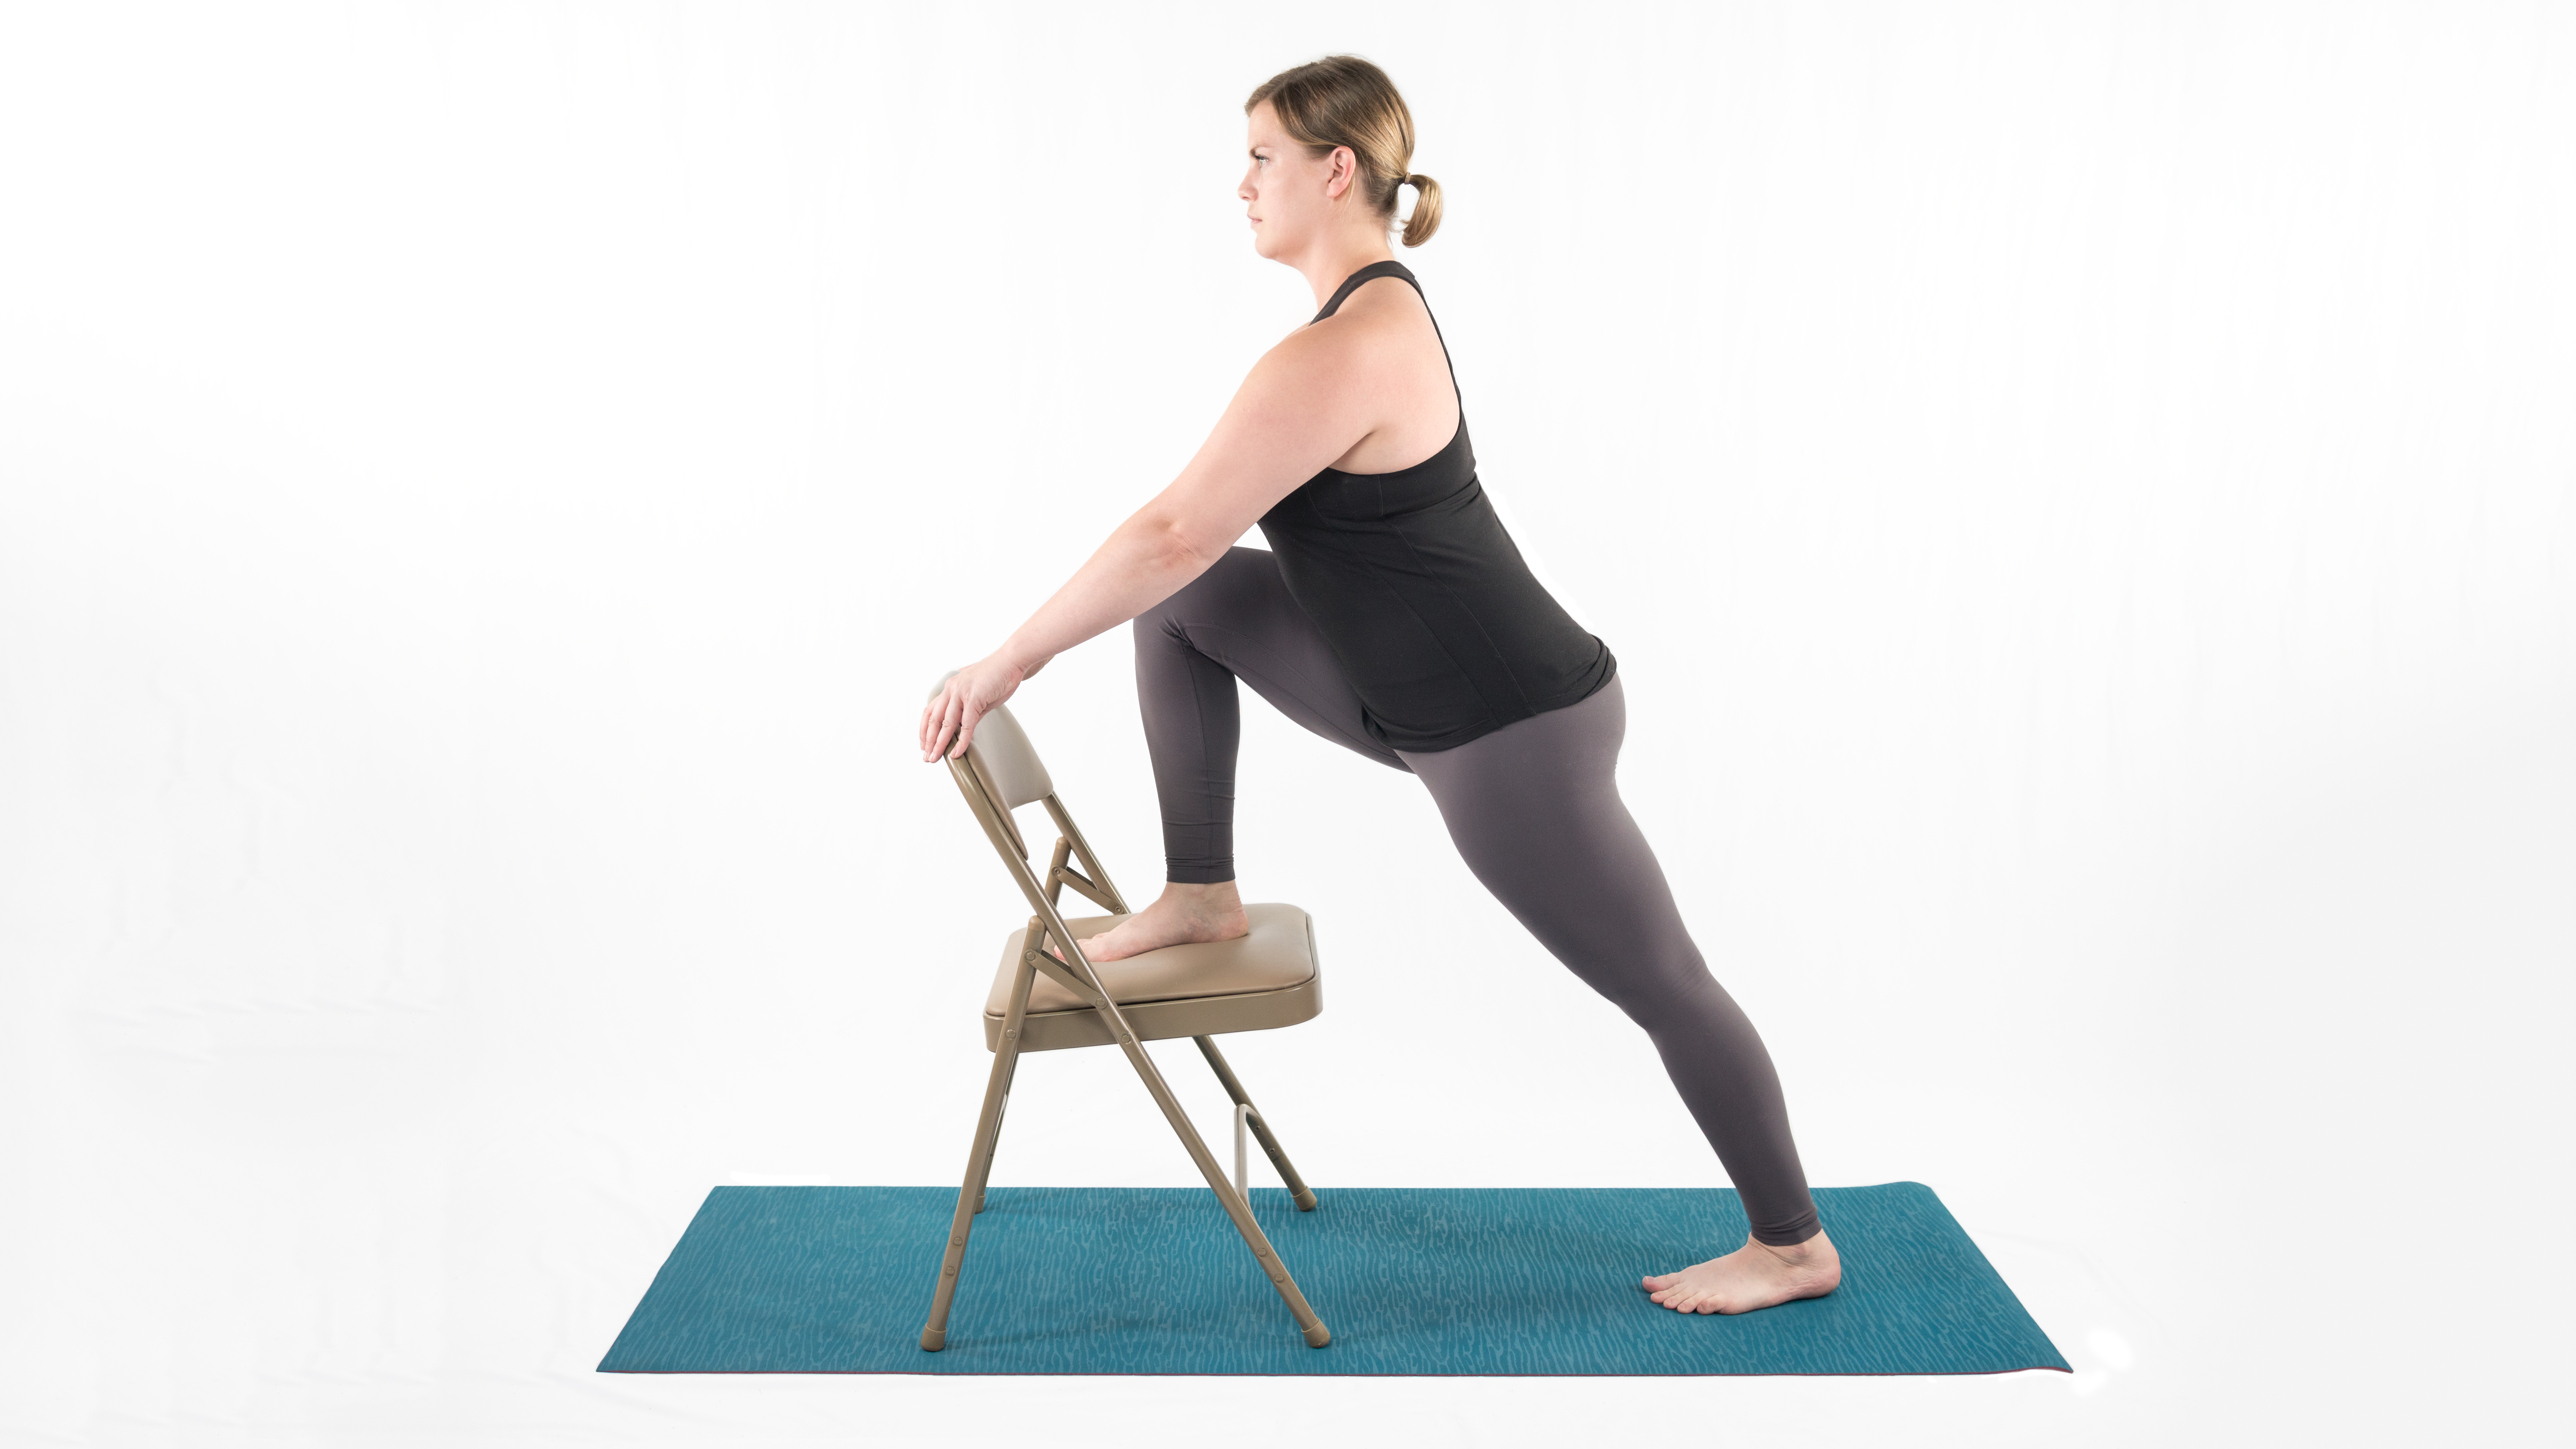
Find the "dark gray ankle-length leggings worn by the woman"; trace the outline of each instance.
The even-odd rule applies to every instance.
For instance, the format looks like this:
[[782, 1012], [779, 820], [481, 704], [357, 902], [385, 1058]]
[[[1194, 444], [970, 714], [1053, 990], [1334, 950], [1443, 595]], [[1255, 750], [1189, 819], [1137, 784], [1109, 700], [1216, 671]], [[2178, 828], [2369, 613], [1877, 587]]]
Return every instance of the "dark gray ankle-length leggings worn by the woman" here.
[[1306, 730], [1419, 776], [1494, 900], [1646, 1029], [1736, 1183], [1754, 1240], [1788, 1245], [1819, 1232], [1770, 1052], [1708, 975], [1664, 866], [1618, 797], [1628, 727], [1618, 678], [1453, 750], [1391, 750], [1360, 727], [1360, 696], [1288, 598], [1278, 562], [1229, 549], [1136, 616], [1136, 696], [1175, 882], [1234, 879], [1236, 678]]

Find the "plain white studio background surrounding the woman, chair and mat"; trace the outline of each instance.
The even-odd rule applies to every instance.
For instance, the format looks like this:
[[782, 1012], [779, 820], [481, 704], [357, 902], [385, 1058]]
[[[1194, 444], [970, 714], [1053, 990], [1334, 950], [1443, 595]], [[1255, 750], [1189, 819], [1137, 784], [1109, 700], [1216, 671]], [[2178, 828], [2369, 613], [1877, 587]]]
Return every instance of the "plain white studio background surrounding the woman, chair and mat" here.
[[[1239, 106], [1342, 49], [1811, 1181], [2079, 1372], [595, 1374], [708, 1186], [956, 1181], [1023, 908], [917, 701], [1311, 312]], [[0, 1428], [2566, 1434], [2571, 139], [2563, 5], [8, 8]], [[1015, 709], [1149, 895], [1128, 670]], [[1417, 781], [1247, 717], [1309, 1176], [1723, 1186]], [[997, 1181], [1193, 1181], [1020, 1083]]]

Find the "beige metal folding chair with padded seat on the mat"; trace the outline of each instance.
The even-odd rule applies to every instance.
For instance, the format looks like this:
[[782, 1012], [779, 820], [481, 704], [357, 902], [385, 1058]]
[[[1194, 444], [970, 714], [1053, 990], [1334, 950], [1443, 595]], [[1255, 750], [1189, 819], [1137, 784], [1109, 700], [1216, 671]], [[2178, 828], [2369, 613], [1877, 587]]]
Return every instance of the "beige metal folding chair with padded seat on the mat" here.
[[[940, 681], [948, 683], [945, 678]], [[935, 694], [935, 691], [933, 691]], [[1144, 1091], [1154, 1096], [1172, 1132], [1180, 1134], [1190, 1160], [1198, 1163], [1216, 1201], [1224, 1204], [1234, 1230], [1244, 1235], [1252, 1258], [1270, 1274], [1270, 1284], [1283, 1299], [1296, 1325], [1306, 1330], [1306, 1343], [1321, 1348], [1332, 1343], [1332, 1330], [1306, 1305], [1288, 1263], [1270, 1248], [1252, 1204], [1244, 1196], [1244, 1129], [1262, 1142], [1262, 1152], [1278, 1168], [1280, 1181], [1298, 1212], [1314, 1212], [1314, 1189], [1296, 1176], [1288, 1152], [1280, 1150], [1270, 1124], [1244, 1096], [1244, 1083], [1216, 1049], [1224, 1031], [1262, 1031], [1293, 1026], [1324, 1011], [1321, 972], [1314, 957], [1314, 920], [1293, 905], [1247, 905], [1252, 933], [1234, 941], [1203, 941], [1164, 946], [1118, 962], [1090, 962], [1082, 941], [1128, 918], [1128, 905], [1100, 869], [1090, 843], [1056, 799], [1056, 786], [1028, 745], [1020, 722], [1010, 709], [994, 706], [976, 722], [974, 745], [963, 758], [948, 761], [948, 773], [958, 781], [969, 810], [984, 825], [984, 835], [1010, 879], [1036, 915], [1012, 931], [1002, 944], [1002, 967], [992, 977], [992, 995], [984, 1000], [984, 1047], [992, 1049], [992, 1078], [984, 1083], [984, 1114], [976, 1116], [974, 1150], [966, 1155], [966, 1183], [958, 1189], [958, 1209], [948, 1222], [948, 1253], [940, 1261], [938, 1294], [930, 1299], [930, 1323], [922, 1328], [922, 1348], [948, 1346], [948, 1305], [956, 1297], [958, 1266], [966, 1261], [966, 1232], [974, 1214], [984, 1212], [984, 1178], [992, 1173], [992, 1150], [1002, 1137], [1002, 1109], [1010, 1104], [1010, 1078], [1020, 1065], [1020, 1052], [1056, 1052], [1064, 1047], [1108, 1047], [1126, 1052]], [[1028, 802], [1046, 804], [1056, 822], [1056, 853], [1043, 882], [1030, 869], [1028, 843], [1012, 812]], [[1079, 861], [1082, 869], [1074, 869]], [[1090, 897], [1115, 915], [1087, 915], [1066, 920], [1056, 913], [1064, 887]], [[1046, 946], [1054, 944], [1056, 954]], [[1061, 959], [1059, 959], [1061, 954]], [[1216, 1080], [1234, 1098], [1234, 1178], [1216, 1165], [1216, 1155], [1198, 1137], [1198, 1127], [1172, 1098], [1172, 1088], [1154, 1070], [1146, 1042], [1190, 1036], [1198, 1052], [1216, 1067]]]

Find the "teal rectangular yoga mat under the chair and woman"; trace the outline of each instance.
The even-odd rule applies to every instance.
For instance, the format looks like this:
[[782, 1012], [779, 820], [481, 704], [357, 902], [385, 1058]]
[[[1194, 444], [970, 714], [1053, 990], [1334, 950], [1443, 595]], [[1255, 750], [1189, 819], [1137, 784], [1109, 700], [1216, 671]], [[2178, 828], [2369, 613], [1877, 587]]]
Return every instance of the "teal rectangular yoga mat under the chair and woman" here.
[[611, 1374], [2002, 1374], [2066, 1369], [1922, 1183], [1814, 1189], [1826, 1297], [1680, 1315], [1636, 1287], [1744, 1243], [1726, 1189], [1319, 1189], [1252, 1212], [1309, 1348], [1206, 1189], [992, 1189], [920, 1348], [956, 1189], [714, 1189]]

